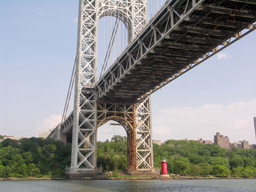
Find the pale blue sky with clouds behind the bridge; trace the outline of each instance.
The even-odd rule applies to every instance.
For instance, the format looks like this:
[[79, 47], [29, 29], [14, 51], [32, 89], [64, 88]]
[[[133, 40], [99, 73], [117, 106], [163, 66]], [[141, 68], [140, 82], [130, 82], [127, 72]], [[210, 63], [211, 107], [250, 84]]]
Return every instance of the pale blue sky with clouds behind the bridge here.
[[[75, 60], [78, 0], [0, 1], [0, 134], [32, 137], [59, 122]], [[256, 32], [151, 96], [154, 139], [255, 143]], [[124, 134], [99, 128], [99, 139]]]

